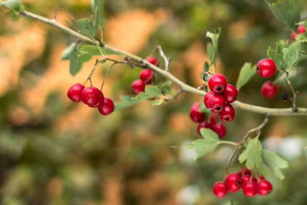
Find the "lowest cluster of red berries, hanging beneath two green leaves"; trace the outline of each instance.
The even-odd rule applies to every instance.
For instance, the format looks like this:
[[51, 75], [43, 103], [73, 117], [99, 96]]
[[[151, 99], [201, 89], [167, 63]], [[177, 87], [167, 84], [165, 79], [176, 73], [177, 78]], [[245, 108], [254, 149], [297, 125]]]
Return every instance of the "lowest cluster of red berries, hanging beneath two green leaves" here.
[[230, 173], [225, 181], [217, 181], [213, 186], [213, 194], [218, 197], [224, 197], [227, 192], [237, 192], [242, 189], [245, 196], [253, 197], [258, 195], [267, 195], [272, 192], [272, 184], [264, 176], [258, 175], [252, 177], [247, 168], [240, 169], [237, 173]]

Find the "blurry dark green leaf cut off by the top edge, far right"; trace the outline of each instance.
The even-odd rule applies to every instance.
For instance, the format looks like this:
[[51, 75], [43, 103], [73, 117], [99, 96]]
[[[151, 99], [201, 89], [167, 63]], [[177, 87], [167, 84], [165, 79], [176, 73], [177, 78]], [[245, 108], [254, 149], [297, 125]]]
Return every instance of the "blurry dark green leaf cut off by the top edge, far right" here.
[[300, 20], [300, 5], [298, 0], [281, 0], [276, 4], [267, 2], [276, 18], [296, 33]]

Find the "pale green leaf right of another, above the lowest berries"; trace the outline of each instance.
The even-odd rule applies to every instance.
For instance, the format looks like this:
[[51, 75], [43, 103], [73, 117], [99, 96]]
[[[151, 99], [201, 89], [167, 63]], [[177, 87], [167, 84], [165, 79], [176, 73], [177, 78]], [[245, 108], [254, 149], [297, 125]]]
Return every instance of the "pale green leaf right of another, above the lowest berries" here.
[[279, 179], [284, 179], [284, 175], [280, 169], [288, 168], [288, 162], [286, 160], [269, 150], [262, 150], [262, 160]]

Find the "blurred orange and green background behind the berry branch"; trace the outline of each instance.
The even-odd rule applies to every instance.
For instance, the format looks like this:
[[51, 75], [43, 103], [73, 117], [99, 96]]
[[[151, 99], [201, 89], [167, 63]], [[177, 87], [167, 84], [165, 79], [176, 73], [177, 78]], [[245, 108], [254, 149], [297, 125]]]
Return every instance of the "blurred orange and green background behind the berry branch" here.
[[[58, 8], [57, 20], [64, 25], [63, 18], [92, 15], [90, 0], [22, 2], [27, 10], [50, 18]], [[301, 5], [304, 19], [307, 2]], [[201, 85], [200, 72], [208, 60], [207, 31], [222, 28], [217, 72], [234, 85], [246, 61], [256, 64], [278, 39], [290, 38], [262, 0], [105, 0], [105, 17], [107, 44], [142, 57], [160, 44], [172, 58], [170, 72], [194, 87]], [[13, 23], [5, 9], [0, 19], [1, 204], [307, 204], [306, 117], [272, 117], [261, 132], [262, 146], [290, 165], [282, 181], [261, 167], [274, 186], [269, 196], [247, 198], [239, 191], [217, 198], [212, 186], [223, 180], [233, 148], [221, 146], [197, 161], [193, 151], [184, 149], [200, 137], [189, 110], [201, 97], [184, 93], [164, 106], [145, 102], [102, 116], [72, 103], [66, 94], [72, 84], [85, 81], [96, 57], [72, 77], [69, 61], [60, 61], [60, 56], [75, 38], [28, 18]], [[99, 66], [95, 86], [101, 85], [109, 66]], [[300, 63], [294, 79], [299, 107], [307, 106], [306, 66]], [[104, 94], [115, 101], [132, 94], [130, 84], [139, 72], [117, 65], [106, 79]], [[157, 76], [158, 82], [163, 80]], [[265, 80], [254, 76], [238, 100], [291, 107], [290, 101], [281, 100], [282, 87], [273, 100], [261, 97]], [[225, 139], [239, 141], [263, 118], [236, 109], [236, 118], [225, 124]], [[238, 168], [233, 163], [230, 171]]]

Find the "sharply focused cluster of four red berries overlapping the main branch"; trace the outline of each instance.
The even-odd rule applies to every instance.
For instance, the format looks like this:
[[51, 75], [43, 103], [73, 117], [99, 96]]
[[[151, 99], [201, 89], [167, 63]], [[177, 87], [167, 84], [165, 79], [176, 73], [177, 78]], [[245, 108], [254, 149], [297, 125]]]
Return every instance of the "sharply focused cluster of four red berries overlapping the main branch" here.
[[208, 80], [208, 86], [211, 91], [205, 95], [204, 103], [206, 108], [214, 113], [218, 113], [218, 117], [223, 122], [229, 122], [234, 119], [235, 112], [231, 105], [237, 96], [238, 90], [230, 84], [222, 74], [213, 74]]

